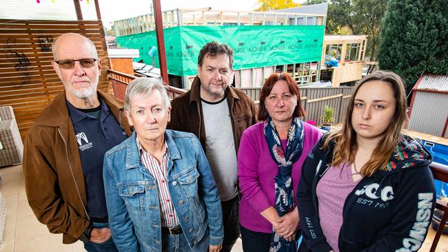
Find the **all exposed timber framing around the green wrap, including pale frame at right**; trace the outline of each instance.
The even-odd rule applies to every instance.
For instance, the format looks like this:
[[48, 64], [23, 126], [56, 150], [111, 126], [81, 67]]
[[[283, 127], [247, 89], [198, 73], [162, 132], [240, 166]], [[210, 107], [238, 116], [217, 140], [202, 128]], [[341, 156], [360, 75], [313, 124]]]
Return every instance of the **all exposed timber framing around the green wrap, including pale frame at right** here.
[[[292, 12], [247, 12], [230, 10], [174, 9], [162, 13], [163, 28], [176, 26], [205, 25], [325, 25], [326, 16]], [[114, 22], [116, 36], [139, 34], [154, 30], [154, 14], [145, 14]], [[321, 73], [325, 80], [332, 81], [333, 87], [340, 83], [358, 81], [362, 77], [367, 36], [328, 36], [324, 37], [322, 59], [319, 62], [294, 63], [288, 65], [266, 65], [235, 71], [236, 87], [250, 83], [249, 87], [261, 86], [264, 79], [273, 72], [288, 72], [294, 76], [298, 85], [320, 81]], [[336, 52], [339, 66], [326, 67], [325, 54]], [[188, 88], [194, 76], [183, 76], [183, 87]]]

